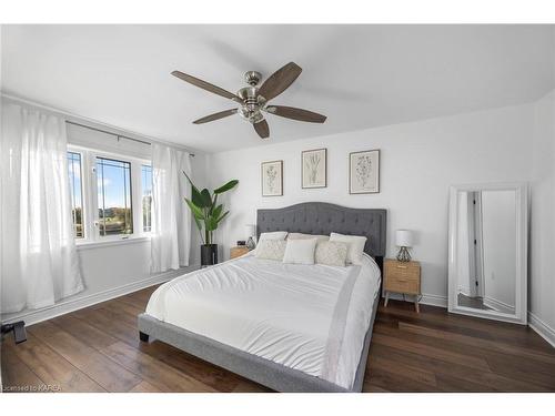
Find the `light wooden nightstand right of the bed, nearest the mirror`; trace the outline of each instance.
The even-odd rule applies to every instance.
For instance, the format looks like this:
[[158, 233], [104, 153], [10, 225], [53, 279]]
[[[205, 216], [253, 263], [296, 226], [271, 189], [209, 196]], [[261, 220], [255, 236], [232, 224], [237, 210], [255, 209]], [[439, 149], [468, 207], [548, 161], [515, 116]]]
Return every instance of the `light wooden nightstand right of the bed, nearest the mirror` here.
[[398, 262], [386, 258], [384, 261], [384, 291], [385, 306], [390, 298], [390, 292], [414, 295], [414, 307], [420, 312], [418, 296], [420, 291], [420, 263], [418, 262]]

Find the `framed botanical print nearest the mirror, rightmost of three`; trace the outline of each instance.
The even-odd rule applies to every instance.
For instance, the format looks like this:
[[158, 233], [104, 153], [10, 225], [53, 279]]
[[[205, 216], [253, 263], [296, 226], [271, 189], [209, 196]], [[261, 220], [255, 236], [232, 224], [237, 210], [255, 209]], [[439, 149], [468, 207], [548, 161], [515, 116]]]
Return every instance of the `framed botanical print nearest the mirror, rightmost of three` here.
[[380, 192], [380, 151], [349, 154], [349, 193]]

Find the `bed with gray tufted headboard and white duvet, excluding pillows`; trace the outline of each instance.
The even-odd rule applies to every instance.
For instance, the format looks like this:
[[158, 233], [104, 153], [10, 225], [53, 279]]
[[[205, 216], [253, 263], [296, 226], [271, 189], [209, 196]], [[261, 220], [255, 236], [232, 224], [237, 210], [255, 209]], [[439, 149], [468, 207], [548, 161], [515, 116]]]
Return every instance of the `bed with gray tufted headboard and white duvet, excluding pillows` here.
[[139, 315], [149, 337], [278, 392], [361, 392], [381, 293], [385, 210], [311, 202], [259, 210], [256, 233], [365, 235], [361, 265], [283, 264], [251, 253], [176, 277]]

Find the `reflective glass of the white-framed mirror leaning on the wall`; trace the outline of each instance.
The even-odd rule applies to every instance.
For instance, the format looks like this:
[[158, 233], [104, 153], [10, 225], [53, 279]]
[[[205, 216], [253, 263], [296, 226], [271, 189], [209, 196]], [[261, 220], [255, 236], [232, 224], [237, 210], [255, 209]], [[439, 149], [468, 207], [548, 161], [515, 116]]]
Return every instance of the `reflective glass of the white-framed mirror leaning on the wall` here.
[[460, 191], [457, 203], [457, 305], [515, 314], [516, 191]]

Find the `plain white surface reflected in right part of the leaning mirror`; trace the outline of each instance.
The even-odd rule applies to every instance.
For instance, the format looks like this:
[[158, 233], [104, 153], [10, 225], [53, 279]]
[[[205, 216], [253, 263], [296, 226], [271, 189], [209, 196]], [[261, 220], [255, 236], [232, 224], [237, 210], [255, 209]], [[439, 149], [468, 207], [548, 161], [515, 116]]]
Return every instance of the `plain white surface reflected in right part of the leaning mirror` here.
[[515, 191], [482, 191], [484, 303], [507, 313], [516, 303], [515, 219]]

